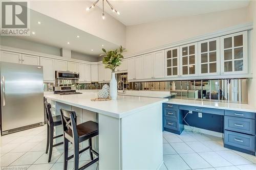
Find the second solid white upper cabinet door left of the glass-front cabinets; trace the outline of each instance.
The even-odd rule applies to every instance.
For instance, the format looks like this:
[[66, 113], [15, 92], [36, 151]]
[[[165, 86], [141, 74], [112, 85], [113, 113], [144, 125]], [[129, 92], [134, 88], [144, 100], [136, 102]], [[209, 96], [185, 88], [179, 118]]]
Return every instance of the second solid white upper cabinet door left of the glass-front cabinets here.
[[[136, 58], [135, 58], [135, 60], [136, 60]], [[135, 69], [136, 78], [137, 78], [137, 75], [138, 75], [138, 79], [141, 79], [142, 75], [139, 72], [139, 70], [140, 70], [139, 67], [143, 66], [143, 78], [144, 79], [153, 79], [153, 77], [154, 77], [153, 60], [154, 60], [154, 54], [153, 53], [145, 54], [143, 56], [143, 63], [139, 63], [138, 69]], [[138, 60], [138, 61], [141, 62], [140, 60]], [[136, 63], [135, 63], [135, 65], [136, 65]], [[137, 68], [137, 67], [135, 67], [135, 68]], [[138, 74], [137, 74], [137, 70], [138, 70]]]

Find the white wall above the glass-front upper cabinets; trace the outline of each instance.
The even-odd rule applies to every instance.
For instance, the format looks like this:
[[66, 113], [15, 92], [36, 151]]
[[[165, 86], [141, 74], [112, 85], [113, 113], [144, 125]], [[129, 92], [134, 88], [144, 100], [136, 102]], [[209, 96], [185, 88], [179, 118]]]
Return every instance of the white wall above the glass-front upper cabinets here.
[[251, 21], [248, 8], [180, 17], [126, 27], [127, 55]]

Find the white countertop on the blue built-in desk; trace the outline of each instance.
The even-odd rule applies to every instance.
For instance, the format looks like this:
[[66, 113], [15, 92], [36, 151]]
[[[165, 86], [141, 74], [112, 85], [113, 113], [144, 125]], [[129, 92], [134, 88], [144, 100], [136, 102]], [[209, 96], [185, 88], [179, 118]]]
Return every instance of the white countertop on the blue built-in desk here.
[[185, 99], [169, 99], [169, 101], [165, 103], [196, 106], [196, 107], [206, 107], [206, 108], [214, 108], [214, 109], [256, 112], [256, 108], [254, 106], [246, 105], [246, 104], [236, 104], [236, 103], [207, 102], [207, 101], [196, 101], [196, 100], [185, 100]]

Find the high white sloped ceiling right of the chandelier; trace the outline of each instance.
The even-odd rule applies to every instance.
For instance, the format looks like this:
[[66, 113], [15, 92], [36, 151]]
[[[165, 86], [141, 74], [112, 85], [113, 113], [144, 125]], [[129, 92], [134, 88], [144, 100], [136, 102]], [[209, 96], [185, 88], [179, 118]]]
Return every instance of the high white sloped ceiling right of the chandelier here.
[[[91, 1], [92, 3], [95, 1]], [[140, 23], [176, 18], [189, 15], [198, 15], [210, 12], [243, 8], [249, 1], [136, 1], [121, 0], [109, 1], [120, 15], [111, 11], [109, 5], [104, 3], [104, 9], [111, 16], [122, 22], [125, 26]], [[102, 9], [102, 0], [97, 4]]]

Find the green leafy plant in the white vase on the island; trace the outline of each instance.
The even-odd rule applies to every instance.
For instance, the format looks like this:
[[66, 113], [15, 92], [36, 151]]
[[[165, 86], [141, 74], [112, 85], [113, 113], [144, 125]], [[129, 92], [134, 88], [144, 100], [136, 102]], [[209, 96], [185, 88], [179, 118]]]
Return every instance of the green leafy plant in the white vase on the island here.
[[104, 54], [101, 54], [100, 56], [103, 56], [102, 63], [105, 64], [105, 68], [109, 68], [112, 72], [115, 72], [116, 67], [121, 65], [121, 61], [123, 59], [122, 53], [126, 52], [125, 48], [121, 45], [119, 49], [116, 50], [106, 52], [106, 50], [102, 48], [102, 51]]

